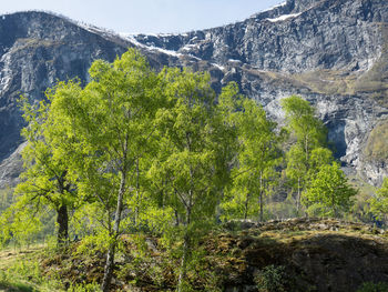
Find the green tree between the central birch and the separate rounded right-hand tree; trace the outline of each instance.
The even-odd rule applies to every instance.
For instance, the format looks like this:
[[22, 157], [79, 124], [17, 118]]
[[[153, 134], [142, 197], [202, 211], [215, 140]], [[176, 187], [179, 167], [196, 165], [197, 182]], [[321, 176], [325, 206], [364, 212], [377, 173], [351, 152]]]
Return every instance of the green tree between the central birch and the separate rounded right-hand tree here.
[[[225, 107], [224, 102], [221, 101], [222, 107]], [[269, 194], [276, 182], [275, 168], [280, 158], [276, 123], [267, 119], [262, 107], [247, 98], [241, 98], [238, 104], [228, 107], [225, 114], [237, 130], [239, 149], [236, 153], [238, 167], [233, 170], [233, 188], [222, 205], [223, 218], [258, 217], [263, 221], [263, 198]]]

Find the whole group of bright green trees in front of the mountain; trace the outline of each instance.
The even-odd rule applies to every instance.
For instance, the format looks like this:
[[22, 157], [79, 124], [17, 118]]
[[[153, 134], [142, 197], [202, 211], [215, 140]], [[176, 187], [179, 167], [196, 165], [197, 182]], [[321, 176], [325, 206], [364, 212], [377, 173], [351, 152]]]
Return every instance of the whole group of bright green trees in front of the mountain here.
[[[39, 104], [22, 99], [24, 172], [16, 204], [0, 218], [2, 240], [32, 232], [25, 219], [38, 225], [33, 212], [49, 209], [59, 244], [73, 232], [83, 238], [80, 250], [105, 252], [102, 290], [109, 291], [122, 235], [156, 234], [180, 254], [177, 291], [186, 291], [210, 229], [231, 219], [264, 221], [266, 199], [274, 190], [286, 193], [280, 184], [297, 193], [297, 211], [349, 210], [357, 191], [308, 101], [282, 101], [285, 141], [287, 131], [234, 82], [217, 94], [208, 73], [156, 72], [133, 49], [112, 63], [96, 60], [89, 72], [88, 84], [58, 82]], [[379, 212], [385, 188], [372, 202]]]

